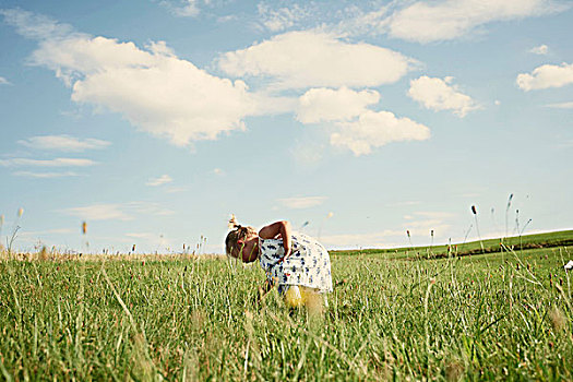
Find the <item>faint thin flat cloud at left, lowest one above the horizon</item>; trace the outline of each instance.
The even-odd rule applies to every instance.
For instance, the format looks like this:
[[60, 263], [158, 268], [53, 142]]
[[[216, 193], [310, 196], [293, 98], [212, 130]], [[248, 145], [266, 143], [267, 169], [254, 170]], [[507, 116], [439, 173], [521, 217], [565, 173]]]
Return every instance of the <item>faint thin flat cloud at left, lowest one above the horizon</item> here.
[[172, 211], [151, 202], [92, 204], [83, 207], [65, 208], [60, 212], [71, 216], [77, 216], [84, 220], [132, 220], [138, 215], [148, 217], [174, 214]]

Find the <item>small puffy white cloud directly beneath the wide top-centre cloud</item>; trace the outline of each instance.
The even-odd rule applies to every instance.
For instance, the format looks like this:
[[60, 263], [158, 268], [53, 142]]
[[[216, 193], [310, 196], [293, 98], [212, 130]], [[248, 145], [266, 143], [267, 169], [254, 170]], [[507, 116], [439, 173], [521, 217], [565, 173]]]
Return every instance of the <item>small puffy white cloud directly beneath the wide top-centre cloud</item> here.
[[377, 91], [311, 88], [299, 98], [297, 119], [302, 123], [349, 120], [367, 111], [368, 106], [379, 100], [380, 94]]

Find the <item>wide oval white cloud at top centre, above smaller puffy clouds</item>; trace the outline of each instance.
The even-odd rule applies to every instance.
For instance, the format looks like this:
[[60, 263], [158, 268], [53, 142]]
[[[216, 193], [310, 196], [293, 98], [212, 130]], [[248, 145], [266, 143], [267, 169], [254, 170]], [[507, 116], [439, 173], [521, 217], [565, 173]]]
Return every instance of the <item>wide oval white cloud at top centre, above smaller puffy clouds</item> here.
[[218, 59], [236, 76], [271, 77], [277, 88], [378, 86], [394, 83], [417, 61], [374, 45], [319, 32], [289, 32]]

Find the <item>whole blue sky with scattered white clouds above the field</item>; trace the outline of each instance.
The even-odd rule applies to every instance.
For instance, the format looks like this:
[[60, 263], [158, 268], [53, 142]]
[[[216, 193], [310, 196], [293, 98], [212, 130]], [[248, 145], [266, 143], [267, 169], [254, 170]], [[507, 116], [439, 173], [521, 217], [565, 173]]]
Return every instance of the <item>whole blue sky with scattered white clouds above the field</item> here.
[[231, 214], [329, 249], [571, 229], [571, 35], [561, 0], [3, 0], [1, 240], [223, 253]]

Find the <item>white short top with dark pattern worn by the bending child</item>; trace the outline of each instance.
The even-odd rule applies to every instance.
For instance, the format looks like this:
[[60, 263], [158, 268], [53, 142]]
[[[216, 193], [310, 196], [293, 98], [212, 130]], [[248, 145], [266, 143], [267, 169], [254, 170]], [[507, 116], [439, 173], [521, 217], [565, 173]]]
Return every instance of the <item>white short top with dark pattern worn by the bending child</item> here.
[[286, 285], [306, 286], [320, 293], [332, 291], [331, 258], [329, 251], [315, 239], [293, 232], [291, 253], [284, 259], [283, 239], [261, 239], [259, 261], [271, 282], [278, 284], [278, 291]]

